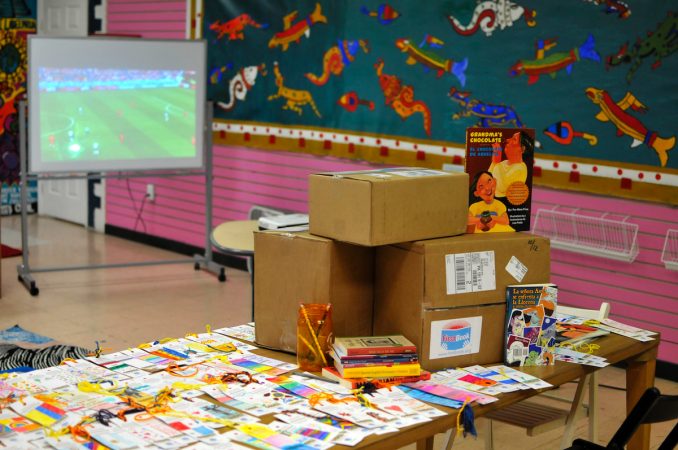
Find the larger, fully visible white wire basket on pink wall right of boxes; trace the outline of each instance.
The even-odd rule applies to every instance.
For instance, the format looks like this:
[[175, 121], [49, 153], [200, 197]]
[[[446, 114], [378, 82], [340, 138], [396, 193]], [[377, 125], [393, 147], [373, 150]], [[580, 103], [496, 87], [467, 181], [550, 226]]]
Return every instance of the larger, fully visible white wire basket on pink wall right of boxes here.
[[579, 209], [565, 212], [553, 209], [537, 211], [533, 234], [546, 236], [551, 247], [617, 261], [633, 262], [638, 256], [638, 225], [608, 218], [608, 214], [589, 216]]

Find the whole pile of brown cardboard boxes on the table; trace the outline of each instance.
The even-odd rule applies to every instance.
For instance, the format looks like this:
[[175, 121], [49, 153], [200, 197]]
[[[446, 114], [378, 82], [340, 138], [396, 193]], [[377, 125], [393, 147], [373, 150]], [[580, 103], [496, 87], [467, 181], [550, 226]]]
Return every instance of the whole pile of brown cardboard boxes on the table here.
[[298, 304], [332, 302], [335, 335], [403, 334], [425, 369], [501, 361], [505, 288], [550, 281], [549, 241], [467, 217], [465, 173], [311, 175], [312, 234], [255, 237], [257, 342], [294, 351]]

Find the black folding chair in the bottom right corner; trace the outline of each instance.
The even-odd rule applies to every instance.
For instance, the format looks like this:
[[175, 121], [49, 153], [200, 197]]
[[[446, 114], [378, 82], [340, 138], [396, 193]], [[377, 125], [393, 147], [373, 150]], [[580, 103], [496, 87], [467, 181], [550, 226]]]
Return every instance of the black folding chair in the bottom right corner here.
[[[678, 419], [678, 395], [662, 395], [657, 388], [649, 388], [624, 419], [607, 446], [584, 439], [575, 439], [568, 450], [623, 449], [640, 425]], [[658, 450], [673, 450], [678, 445], [678, 422], [666, 436]]]

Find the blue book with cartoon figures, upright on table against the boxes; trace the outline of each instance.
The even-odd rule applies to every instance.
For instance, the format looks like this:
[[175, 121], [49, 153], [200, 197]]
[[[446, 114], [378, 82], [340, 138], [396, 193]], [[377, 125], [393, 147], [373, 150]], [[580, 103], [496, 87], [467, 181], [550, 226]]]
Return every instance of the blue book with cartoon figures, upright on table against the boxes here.
[[506, 287], [508, 366], [555, 364], [558, 287], [555, 284], [514, 284]]

